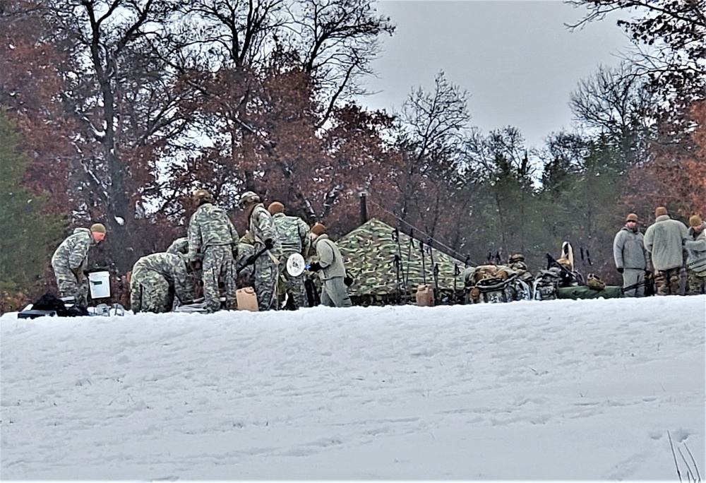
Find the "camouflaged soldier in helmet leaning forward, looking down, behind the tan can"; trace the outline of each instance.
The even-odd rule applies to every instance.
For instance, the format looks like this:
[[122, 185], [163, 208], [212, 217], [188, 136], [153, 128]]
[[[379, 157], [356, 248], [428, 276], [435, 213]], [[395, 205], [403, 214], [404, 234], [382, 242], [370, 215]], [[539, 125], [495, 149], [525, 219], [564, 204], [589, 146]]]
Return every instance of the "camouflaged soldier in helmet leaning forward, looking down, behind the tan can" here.
[[260, 196], [253, 191], [241, 194], [238, 202], [249, 220], [249, 231], [253, 237], [255, 253], [265, 248], [265, 240], [271, 239], [273, 248], [265, 251], [255, 261], [255, 293], [260, 310], [277, 309], [277, 279], [280, 276], [280, 256], [282, 245], [272, 215], [260, 202]]

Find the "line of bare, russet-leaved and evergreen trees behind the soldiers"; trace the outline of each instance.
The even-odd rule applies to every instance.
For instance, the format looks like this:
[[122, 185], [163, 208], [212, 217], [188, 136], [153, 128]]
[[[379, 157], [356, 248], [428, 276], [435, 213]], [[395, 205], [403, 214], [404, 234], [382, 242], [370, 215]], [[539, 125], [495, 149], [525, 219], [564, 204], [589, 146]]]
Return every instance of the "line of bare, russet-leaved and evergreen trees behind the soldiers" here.
[[534, 148], [474, 128], [443, 72], [400, 112], [363, 107], [395, 31], [370, 0], [0, 1], [0, 290], [47, 290], [56, 245], [95, 221], [96, 259], [125, 273], [184, 236], [202, 187], [241, 232], [244, 190], [339, 235], [365, 192], [471, 264], [521, 252], [537, 270], [566, 239], [611, 280], [626, 213], [706, 214], [706, 8], [567, 3], [587, 8], [571, 28], [625, 11], [635, 50], [580, 80], [575, 129]]

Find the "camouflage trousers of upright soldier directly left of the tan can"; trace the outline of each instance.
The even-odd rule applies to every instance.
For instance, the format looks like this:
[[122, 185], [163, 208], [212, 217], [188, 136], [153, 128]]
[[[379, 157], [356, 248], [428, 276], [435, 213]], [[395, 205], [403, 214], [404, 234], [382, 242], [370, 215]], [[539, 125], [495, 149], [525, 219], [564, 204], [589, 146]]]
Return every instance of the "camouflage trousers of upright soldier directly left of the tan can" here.
[[235, 309], [235, 263], [230, 245], [209, 246], [203, 254], [203, 298], [206, 310], [215, 312], [220, 309], [220, 286], [225, 288], [226, 309]]

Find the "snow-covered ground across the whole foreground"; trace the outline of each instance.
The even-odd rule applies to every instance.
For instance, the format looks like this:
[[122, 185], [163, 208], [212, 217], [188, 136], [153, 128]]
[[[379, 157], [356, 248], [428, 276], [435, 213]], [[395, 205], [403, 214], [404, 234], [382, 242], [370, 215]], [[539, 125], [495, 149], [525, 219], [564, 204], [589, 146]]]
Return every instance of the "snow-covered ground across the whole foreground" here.
[[1, 478], [678, 481], [670, 436], [703, 478], [705, 321], [704, 296], [5, 314]]

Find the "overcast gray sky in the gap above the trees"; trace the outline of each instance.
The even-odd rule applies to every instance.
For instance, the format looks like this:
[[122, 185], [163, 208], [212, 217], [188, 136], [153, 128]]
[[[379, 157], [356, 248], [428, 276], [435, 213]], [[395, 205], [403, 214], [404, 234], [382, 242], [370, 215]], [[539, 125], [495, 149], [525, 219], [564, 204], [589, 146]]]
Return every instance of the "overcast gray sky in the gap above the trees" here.
[[379, 91], [361, 102], [399, 110], [412, 88], [433, 88], [438, 71], [470, 94], [471, 124], [483, 133], [503, 126], [539, 147], [571, 126], [569, 95], [599, 64], [617, 65], [628, 40], [604, 20], [570, 32], [582, 11], [561, 0], [384, 0], [378, 12], [397, 25], [373, 62]]

